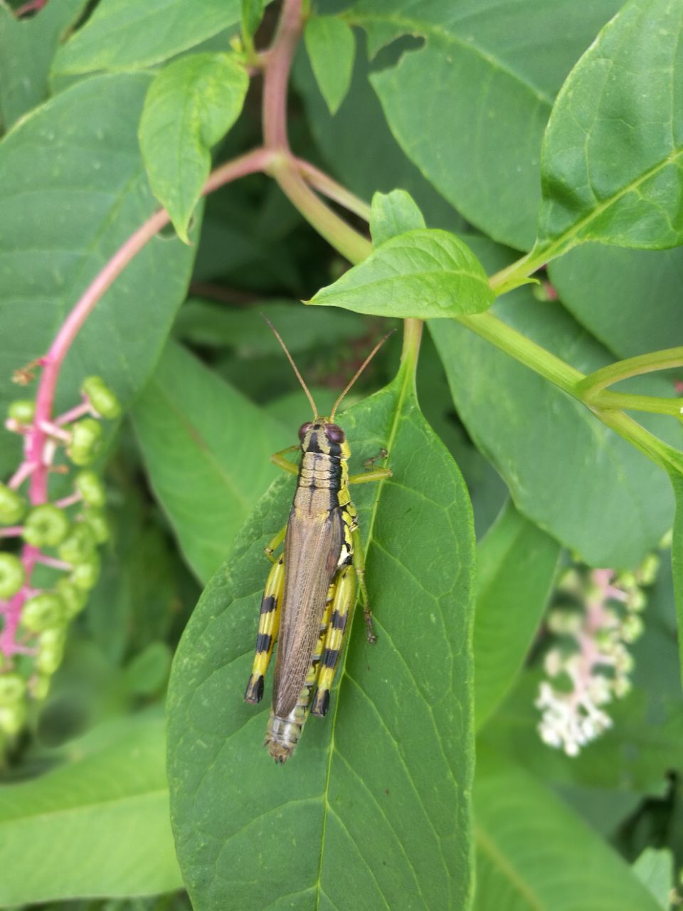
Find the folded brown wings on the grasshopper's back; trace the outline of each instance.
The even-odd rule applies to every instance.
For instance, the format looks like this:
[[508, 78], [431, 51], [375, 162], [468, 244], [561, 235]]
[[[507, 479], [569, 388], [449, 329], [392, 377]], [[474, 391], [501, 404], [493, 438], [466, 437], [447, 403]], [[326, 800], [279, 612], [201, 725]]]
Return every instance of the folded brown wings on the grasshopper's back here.
[[320, 635], [327, 589], [342, 551], [340, 509], [297, 515], [284, 543], [285, 583], [273, 683], [273, 712], [285, 718], [299, 699]]

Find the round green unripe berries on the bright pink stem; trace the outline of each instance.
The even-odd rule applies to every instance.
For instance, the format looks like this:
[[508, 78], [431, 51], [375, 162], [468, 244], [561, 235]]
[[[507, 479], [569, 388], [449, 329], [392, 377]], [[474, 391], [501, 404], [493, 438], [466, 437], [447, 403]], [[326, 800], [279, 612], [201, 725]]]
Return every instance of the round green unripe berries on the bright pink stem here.
[[[0, 483], [0, 526], [11, 527], [9, 534], [38, 548], [63, 572], [50, 590], [27, 589], [31, 594], [22, 605], [18, 631], [31, 660], [22, 658], [13, 668], [5, 655], [5, 665], [0, 663], [0, 734], [6, 736], [14, 736], [24, 725], [29, 697], [46, 697], [50, 678], [64, 655], [68, 623], [84, 609], [87, 593], [97, 583], [97, 547], [109, 537], [105, 488], [97, 473], [86, 466], [97, 458], [103, 445], [99, 418], [118, 417], [121, 406], [101, 377], [87, 377], [81, 392], [93, 416], [65, 425], [61, 441], [71, 463], [80, 469], [74, 477], [73, 495], [65, 502], [30, 507], [25, 496]], [[76, 409], [76, 414], [85, 408]], [[35, 413], [34, 402], [13, 402], [8, 428], [30, 432]], [[0, 600], [9, 601], [26, 586], [30, 581], [24, 561], [14, 553], [0, 553]]]

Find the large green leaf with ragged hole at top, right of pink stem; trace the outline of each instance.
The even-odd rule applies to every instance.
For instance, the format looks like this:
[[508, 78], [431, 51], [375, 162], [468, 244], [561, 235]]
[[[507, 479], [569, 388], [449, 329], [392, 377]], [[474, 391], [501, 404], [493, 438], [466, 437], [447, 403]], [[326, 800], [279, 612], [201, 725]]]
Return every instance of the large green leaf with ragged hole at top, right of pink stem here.
[[467, 220], [519, 248], [535, 239], [539, 161], [557, 89], [619, 0], [360, 0], [373, 55], [423, 46], [371, 77], [406, 155]]

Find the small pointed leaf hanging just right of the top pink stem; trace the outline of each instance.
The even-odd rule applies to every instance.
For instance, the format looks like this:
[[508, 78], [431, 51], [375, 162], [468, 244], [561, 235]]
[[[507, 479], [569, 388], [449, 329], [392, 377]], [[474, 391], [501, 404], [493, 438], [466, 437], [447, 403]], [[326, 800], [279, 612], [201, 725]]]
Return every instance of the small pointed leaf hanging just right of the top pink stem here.
[[335, 15], [314, 15], [303, 33], [311, 67], [331, 114], [336, 114], [351, 85], [356, 41]]

